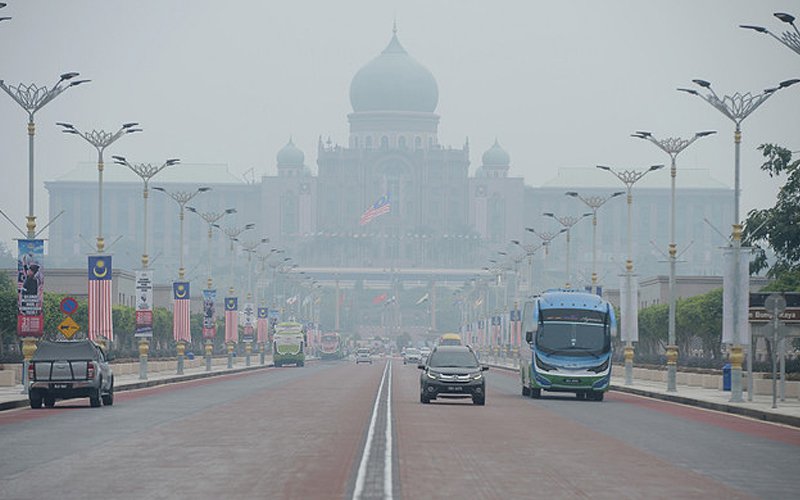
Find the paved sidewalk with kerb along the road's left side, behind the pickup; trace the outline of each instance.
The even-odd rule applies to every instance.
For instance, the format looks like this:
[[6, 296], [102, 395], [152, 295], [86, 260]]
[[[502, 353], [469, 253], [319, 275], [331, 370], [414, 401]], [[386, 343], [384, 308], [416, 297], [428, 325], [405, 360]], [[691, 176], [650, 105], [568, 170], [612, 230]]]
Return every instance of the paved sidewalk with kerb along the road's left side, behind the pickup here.
[[[203, 360], [200, 359], [200, 361]], [[176, 372], [176, 362], [169, 363], [172, 365], [169, 369], [154, 371], [153, 368], [159, 365], [163, 366], [165, 363], [158, 362], [157, 360], [150, 360], [148, 363], [147, 380], [139, 379], [138, 362], [112, 364], [111, 368], [114, 370], [114, 392], [131, 391], [134, 389], [185, 382], [187, 380], [199, 378], [260, 370], [272, 366], [272, 356], [266, 356], [265, 364], [262, 365], [260, 364], [258, 353], [250, 356], [250, 366], [246, 366], [246, 361], [243, 356], [233, 358], [233, 368], [230, 369], [227, 367], [227, 358], [225, 357], [216, 357], [213, 361], [211, 371], [207, 372], [204, 362], [202, 364], [192, 363], [191, 365], [196, 366], [191, 366], [187, 360], [183, 375], [178, 375]], [[23, 392], [22, 384], [0, 387], [0, 411], [28, 406], [28, 404], [28, 394], [27, 392]]]

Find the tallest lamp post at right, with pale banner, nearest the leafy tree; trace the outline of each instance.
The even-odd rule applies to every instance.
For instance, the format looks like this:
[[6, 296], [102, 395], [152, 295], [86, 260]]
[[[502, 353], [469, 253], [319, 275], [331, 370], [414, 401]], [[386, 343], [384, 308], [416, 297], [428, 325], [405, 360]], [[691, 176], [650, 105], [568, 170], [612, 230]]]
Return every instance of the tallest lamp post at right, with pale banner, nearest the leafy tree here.
[[[723, 95], [720, 97], [714, 89], [711, 88], [711, 83], [706, 80], [694, 79], [692, 82], [705, 89], [705, 93], [701, 94], [694, 89], [679, 88], [681, 92], [700, 97], [708, 104], [713, 106], [717, 111], [728, 117], [734, 125], [733, 143], [734, 143], [734, 193], [733, 193], [733, 229], [731, 231], [731, 245], [730, 245], [730, 258], [732, 260], [731, 269], [731, 285], [724, 285], [723, 294], [727, 292], [730, 294], [729, 301], [723, 300], [723, 304], [734, 305], [732, 311], [723, 310], [723, 328], [722, 337], [723, 342], [727, 341], [731, 344], [730, 361], [731, 361], [731, 402], [742, 401], [742, 361], [744, 354], [742, 353], [742, 334], [745, 328], [747, 298], [745, 294], [748, 293], [749, 288], [749, 275], [746, 269], [742, 269], [741, 251], [742, 251], [742, 224], [739, 218], [739, 198], [741, 196], [741, 187], [739, 179], [740, 171], [740, 150], [742, 142], [742, 122], [745, 118], [750, 116], [753, 111], [758, 109], [767, 99], [775, 95], [781, 89], [785, 89], [800, 82], [798, 79], [784, 80], [778, 84], [777, 87], [771, 87], [763, 90], [758, 94], [747, 92], [741, 94], [739, 92], [733, 95]], [[746, 266], [747, 263], [745, 262]], [[741, 307], [740, 307], [741, 306]], [[723, 307], [724, 309], [724, 307]], [[743, 310], [742, 310], [743, 309]], [[727, 325], [728, 319], [730, 324]], [[729, 326], [729, 328], [726, 328]], [[730, 335], [727, 335], [727, 332]], [[748, 361], [749, 363], [749, 361]], [[751, 391], [752, 392], [752, 391]]]

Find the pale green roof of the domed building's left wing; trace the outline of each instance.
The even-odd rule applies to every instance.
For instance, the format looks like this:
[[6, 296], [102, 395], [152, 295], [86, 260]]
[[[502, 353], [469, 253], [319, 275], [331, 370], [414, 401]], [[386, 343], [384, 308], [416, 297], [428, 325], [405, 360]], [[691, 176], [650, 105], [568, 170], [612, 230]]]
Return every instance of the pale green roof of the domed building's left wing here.
[[[97, 164], [81, 162], [75, 168], [55, 179], [55, 182], [97, 182]], [[139, 176], [130, 169], [113, 162], [106, 162], [103, 169], [103, 183], [106, 182], [142, 182]], [[242, 184], [244, 181], [233, 175], [224, 163], [179, 163], [167, 167], [150, 182], [159, 183], [192, 183], [192, 184]]]

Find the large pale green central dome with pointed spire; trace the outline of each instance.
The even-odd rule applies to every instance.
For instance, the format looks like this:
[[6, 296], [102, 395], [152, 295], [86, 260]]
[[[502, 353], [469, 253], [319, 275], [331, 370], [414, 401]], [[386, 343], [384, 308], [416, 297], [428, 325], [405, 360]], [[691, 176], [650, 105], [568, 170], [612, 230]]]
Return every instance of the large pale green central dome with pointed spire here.
[[400, 45], [397, 33], [381, 55], [358, 70], [350, 83], [353, 111], [432, 113], [439, 102], [436, 79]]

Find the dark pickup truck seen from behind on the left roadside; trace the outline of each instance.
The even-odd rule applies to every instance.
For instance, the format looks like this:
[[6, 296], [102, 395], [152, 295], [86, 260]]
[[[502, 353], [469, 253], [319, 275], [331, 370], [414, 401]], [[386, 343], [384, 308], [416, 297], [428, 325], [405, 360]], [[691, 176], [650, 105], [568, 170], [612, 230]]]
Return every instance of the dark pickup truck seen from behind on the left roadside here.
[[39, 343], [28, 364], [28, 380], [31, 408], [86, 397], [93, 408], [114, 404], [114, 374], [103, 349], [91, 340]]

